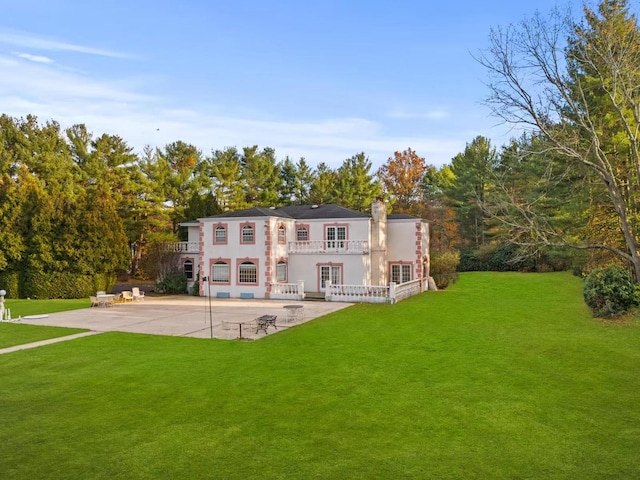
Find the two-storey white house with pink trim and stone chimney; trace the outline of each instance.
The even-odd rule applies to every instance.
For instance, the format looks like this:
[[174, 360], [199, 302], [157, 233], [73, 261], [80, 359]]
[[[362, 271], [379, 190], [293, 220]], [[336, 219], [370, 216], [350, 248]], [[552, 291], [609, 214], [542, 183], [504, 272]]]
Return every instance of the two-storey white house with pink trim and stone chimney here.
[[181, 225], [188, 241], [176, 251], [201, 296], [389, 301], [396, 286], [423, 291], [429, 277], [428, 223], [387, 216], [381, 200], [371, 214], [338, 205], [255, 207]]

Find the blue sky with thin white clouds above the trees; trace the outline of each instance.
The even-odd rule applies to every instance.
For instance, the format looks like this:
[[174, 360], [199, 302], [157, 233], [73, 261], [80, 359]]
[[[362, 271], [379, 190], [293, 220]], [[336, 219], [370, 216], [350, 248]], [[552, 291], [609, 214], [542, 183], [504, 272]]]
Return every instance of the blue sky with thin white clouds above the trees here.
[[[492, 27], [552, 0], [0, 0], [0, 113], [83, 123], [142, 152], [271, 147], [441, 166], [513, 131], [483, 104]], [[566, 2], [565, 2], [566, 4]]]

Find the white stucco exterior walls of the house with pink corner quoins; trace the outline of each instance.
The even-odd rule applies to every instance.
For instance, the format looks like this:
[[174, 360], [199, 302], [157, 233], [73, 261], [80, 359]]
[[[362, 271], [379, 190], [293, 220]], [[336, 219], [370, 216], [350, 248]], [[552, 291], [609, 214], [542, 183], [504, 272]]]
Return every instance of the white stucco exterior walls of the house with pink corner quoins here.
[[[224, 241], [219, 238], [215, 241], [216, 226], [226, 229]], [[243, 243], [243, 226], [253, 228], [253, 241]], [[298, 241], [299, 227], [306, 228], [308, 232], [304, 241]], [[343, 249], [319, 251], [327, 246], [325, 242], [330, 227], [344, 227], [344, 240], [352, 243], [345, 244], [347, 248]], [[323, 290], [322, 267], [331, 267], [329, 270], [333, 273], [339, 272], [340, 283], [344, 285], [387, 285], [390, 265], [393, 264], [411, 265], [412, 280], [422, 277], [425, 261], [428, 272], [428, 227], [426, 222], [417, 218], [387, 219], [386, 208], [381, 201], [372, 205], [371, 217], [292, 219], [278, 217], [276, 212], [273, 216], [216, 216], [201, 219], [199, 225], [187, 225], [189, 242], [197, 242], [199, 252], [189, 252], [181, 257], [194, 261], [194, 277], [199, 273], [201, 295], [270, 298], [274, 284], [298, 284], [301, 281], [305, 292], [320, 292]], [[281, 229], [284, 229], [284, 241]], [[305, 250], [304, 242], [315, 245]], [[217, 265], [216, 272], [220, 273], [221, 263], [216, 262], [228, 265], [228, 281], [212, 278], [213, 265]], [[255, 282], [247, 282], [246, 275], [240, 282], [240, 269], [247, 271], [245, 262], [255, 265]], [[286, 278], [280, 282], [278, 262], [285, 262], [287, 267]], [[403, 267], [403, 272], [406, 272], [406, 267]], [[208, 278], [206, 282], [202, 281], [205, 277]]]

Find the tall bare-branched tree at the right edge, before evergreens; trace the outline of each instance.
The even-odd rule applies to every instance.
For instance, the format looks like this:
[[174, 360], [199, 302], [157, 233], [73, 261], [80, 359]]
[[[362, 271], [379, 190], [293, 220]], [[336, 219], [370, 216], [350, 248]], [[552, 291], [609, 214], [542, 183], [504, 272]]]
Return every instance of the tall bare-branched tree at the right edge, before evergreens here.
[[[551, 154], [565, 171], [587, 172], [594, 199], [604, 194], [615, 222], [602, 241], [574, 245], [614, 253], [638, 281], [640, 32], [626, 0], [583, 12], [578, 21], [556, 10], [492, 30], [479, 58], [489, 73], [487, 103], [506, 122], [540, 135], [537, 153]], [[516, 210], [519, 226], [537, 242], [572, 243], [535, 205]]]

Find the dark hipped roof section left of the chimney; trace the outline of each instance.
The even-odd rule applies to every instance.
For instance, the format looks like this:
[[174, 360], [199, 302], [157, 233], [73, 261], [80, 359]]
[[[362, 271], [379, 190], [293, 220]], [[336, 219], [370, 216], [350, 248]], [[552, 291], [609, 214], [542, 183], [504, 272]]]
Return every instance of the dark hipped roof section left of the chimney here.
[[370, 218], [370, 215], [356, 212], [340, 205], [292, 205], [280, 208], [253, 207], [234, 212], [219, 213], [207, 218], [279, 217], [296, 220], [320, 218]]

